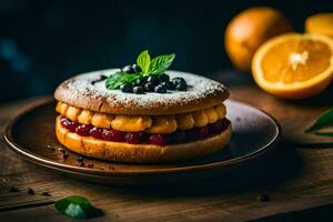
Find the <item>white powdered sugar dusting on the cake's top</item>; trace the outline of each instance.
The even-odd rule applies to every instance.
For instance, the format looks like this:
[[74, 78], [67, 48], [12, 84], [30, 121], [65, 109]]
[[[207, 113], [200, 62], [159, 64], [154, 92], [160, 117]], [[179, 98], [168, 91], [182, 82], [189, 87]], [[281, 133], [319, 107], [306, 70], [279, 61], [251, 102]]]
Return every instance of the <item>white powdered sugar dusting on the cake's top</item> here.
[[102, 99], [108, 103], [121, 103], [124, 109], [133, 105], [138, 109], [148, 108], [151, 104], [161, 104], [161, 107], [174, 105], [182, 103], [195, 103], [206, 98], [209, 94], [215, 94], [226, 91], [225, 87], [214, 80], [204, 77], [179, 71], [167, 71], [170, 78], [182, 77], [185, 79], [189, 88], [188, 91], [168, 91], [168, 93], [124, 93], [120, 90], [109, 90], [105, 88], [105, 80], [92, 84], [91, 82], [99, 79], [100, 75], [110, 75], [118, 69], [94, 71], [79, 74], [65, 81], [62, 85], [69, 90], [73, 97], [89, 95], [94, 99]]

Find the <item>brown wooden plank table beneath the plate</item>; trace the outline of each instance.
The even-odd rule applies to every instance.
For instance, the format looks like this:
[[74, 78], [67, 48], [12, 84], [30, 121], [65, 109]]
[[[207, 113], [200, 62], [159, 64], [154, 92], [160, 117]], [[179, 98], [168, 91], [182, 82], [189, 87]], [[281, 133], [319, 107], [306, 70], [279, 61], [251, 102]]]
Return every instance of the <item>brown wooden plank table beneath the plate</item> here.
[[[223, 73], [219, 77], [224, 78]], [[53, 202], [72, 194], [87, 196], [103, 211], [91, 221], [332, 220], [333, 140], [303, 133], [332, 107], [332, 90], [306, 102], [292, 102], [262, 92], [251, 80], [242, 87], [240, 81], [234, 85], [232, 78], [225, 79], [232, 99], [281, 122], [284, 139], [261, 160], [199, 184], [105, 186], [56, 174], [21, 160], [2, 139], [6, 122], [43, 98], [0, 105], [0, 221], [71, 221], [56, 211]], [[10, 192], [12, 186], [18, 191]], [[28, 193], [29, 188], [34, 194]]]

